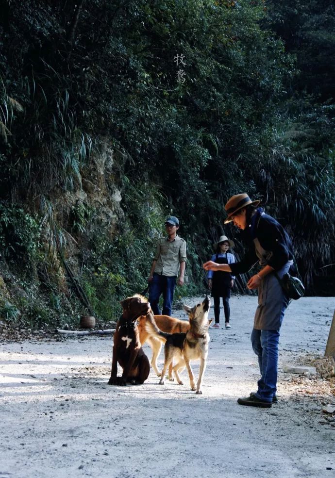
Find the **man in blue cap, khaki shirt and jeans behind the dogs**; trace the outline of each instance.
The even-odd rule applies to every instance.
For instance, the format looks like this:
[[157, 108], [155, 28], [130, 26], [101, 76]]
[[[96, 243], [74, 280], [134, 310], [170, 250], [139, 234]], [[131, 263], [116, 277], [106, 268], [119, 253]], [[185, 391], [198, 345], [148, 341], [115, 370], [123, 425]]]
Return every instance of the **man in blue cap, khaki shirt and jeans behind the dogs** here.
[[163, 294], [163, 314], [171, 315], [173, 293], [179, 269], [178, 285], [184, 285], [186, 242], [177, 236], [178, 218], [169, 216], [165, 222], [165, 228], [168, 236], [162, 237], [158, 241], [148, 279], [150, 284], [149, 302], [155, 315], [161, 313], [158, 307], [161, 294]]

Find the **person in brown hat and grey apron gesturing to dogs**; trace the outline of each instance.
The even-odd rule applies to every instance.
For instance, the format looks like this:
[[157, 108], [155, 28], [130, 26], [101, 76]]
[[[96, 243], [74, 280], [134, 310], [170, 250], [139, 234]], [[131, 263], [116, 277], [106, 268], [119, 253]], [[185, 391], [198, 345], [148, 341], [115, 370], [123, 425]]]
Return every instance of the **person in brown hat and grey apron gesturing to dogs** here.
[[251, 332], [252, 349], [258, 356], [261, 378], [257, 392], [238, 398], [240, 405], [270, 408], [276, 403], [279, 335], [288, 298], [272, 273], [282, 278], [293, 264], [291, 241], [273, 217], [257, 208], [260, 201], [251, 201], [247, 194], [236, 194], [225, 205], [225, 224], [234, 222], [242, 231], [248, 249], [244, 258], [234, 264], [208, 261], [205, 270], [221, 270], [240, 274], [248, 272], [258, 261], [261, 269], [251, 276], [247, 287], [258, 288], [258, 307]]

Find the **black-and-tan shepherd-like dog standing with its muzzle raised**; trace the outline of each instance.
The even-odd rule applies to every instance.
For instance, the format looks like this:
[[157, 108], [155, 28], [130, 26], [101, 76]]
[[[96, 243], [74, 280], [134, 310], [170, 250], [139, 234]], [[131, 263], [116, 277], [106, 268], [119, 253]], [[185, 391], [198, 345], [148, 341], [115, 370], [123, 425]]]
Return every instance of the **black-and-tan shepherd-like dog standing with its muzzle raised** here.
[[[206, 368], [208, 344], [210, 340], [208, 328], [213, 321], [213, 319], [208, 321], [209, 307], [210, 299], [207, 296], [202, 302], [199, 302], [192, 308], [184, 305], [184, 310], [187, 312], [189, 317], [190, 330], [181, 333], [166, 334], [162, 332], [160, 334], [160, 337], [166, 336], [167, 338], [164, 347], [165, 360], [161, 379], [159, 381], [160, 384], [164, 384], [164, 377], [168, 368], [169, 379], [173, 380], [170, 365], [173, 363], [173, 359], [175, 359], [176, 364], [173, 365], [172, 370], [175, 374], [177, 382], [183, 385], [183, 382], [179, 377], [179, 372], [181, 372], [186, 366], [190, 379], [191, 390], [196, 390], [197, 394], [202, 394], [201, 384]], [[154, 330], [150, 322], [146, 324], [146, 329], [149, 333], [149, 336], [156, 336], [158, 338], [157, 332]], [[190, 365], [191, 360], [200, 360], [200, 371], [197, 387], [195, 386], [194, 375]]]

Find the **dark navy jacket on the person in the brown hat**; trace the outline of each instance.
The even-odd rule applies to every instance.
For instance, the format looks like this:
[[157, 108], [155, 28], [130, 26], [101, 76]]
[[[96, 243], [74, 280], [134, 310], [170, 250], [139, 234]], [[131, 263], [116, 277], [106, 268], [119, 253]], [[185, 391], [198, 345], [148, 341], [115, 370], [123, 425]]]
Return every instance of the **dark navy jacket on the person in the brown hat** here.
[[293, 259], [293, 247], [287, 232], [276, 219], [263, 213], [258, 208], [251, 217], [250, 224], [242, 231], [242, 240], [248, 251], [240, 262], [229, 264], [233, 274], [248, 272], [253, 264], [259, 261], [256, 255], [253, 239], [257, 238], [263, 249], [273, 252], [268, 265], [275, 271], [280, 270], [289, 260]]

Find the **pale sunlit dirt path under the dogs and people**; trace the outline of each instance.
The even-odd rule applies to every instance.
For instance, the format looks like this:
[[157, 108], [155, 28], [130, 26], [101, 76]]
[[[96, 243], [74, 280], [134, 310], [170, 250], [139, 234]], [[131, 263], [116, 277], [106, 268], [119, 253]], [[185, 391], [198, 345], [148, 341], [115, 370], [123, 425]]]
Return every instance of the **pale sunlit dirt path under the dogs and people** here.
[[[323, 355], [334, 305], [290, 305], [280, 367]], [[202, 396], [185, 371], [183, 386], [159, 386], [152, 371], [142, 386], [108, 386], [111, 337], [2, 343], [0, 478], [335, 477], [334, 420], [322, 414], [335, 403], [330, 382], [280, 372], [277, 405], [236, 403], [258, 379], [255, 307], [255, 297], [233, 297], [232, 329], [210, 330]]]

